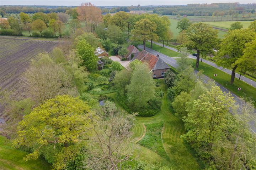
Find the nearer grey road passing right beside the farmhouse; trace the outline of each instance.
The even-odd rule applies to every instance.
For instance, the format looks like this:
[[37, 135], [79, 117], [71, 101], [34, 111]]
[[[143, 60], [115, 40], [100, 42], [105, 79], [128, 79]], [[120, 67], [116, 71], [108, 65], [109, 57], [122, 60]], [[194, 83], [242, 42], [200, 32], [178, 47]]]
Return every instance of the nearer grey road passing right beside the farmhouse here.
[[[140, 49], [143, 49], [143, 45], [139, 45], [138, 47], [139, 47]], [[174, 58], [171, 58], [171, 57], [169, 57], [169, 56], [166, 56], [166, 55], [164, 55], [164, 54], [162, 54], [162, 53], [159, 53], [158, 51], [152, 50], [152, 49], [150, 49], [150, 48], [148, 48], [148, 47], [146, 47], [146, 51], [148, 51], [149, 53], [154, 54], [154, 55], [159, 54], [159, 57], [160, 57], [164, 62], [166, 62], [167, 64], [171, 65], [171, 66], [174, 67], [174, 68], [177, 68], [177, 67], [178, 67], [178, 64], [177, 64], [177, 62], [176, 62], [176, 60], [175, 60]], [[197, 71], [197, 70], [194, 70], [194, 74], [197, 74], [197, 73], [198, 73], [198, 71]], [[207, 81], [210, 80], [210, 78], [207, 77], [207, 76], [205, 76], [205, 75], [203, 75], [202, 80], [203, 80], [205, 83], [207, 83]], [[214, 82], [215, 82], [215, 81], [214, 81]], [[221, 89], [223, 92], [226, 92], [226, 93], [230, 92], [228, 89], [226, 89], [225, 87], [223, 87], [223, 86], [220, 85], [219, 83], [215, 82], [215, 84], [216, 84], [217, 86], [219, 86], [220, 89]], [[238, 96], [236, 96], [235, 94], [233, 94], [232, 92], [230, 92], [230, 94], [234, 97], [234, 100], [236, 101], [236, 104], [239, 105], [239, 109], [241, 110], [241, 107], [240, 107], [240, 106], [241, 106], [241, 100], [240, 100], [240, 98], [239, 98]], [[255, 110], [255, 113], [256, 113], [256, 110]], [[253, 129], [254, 131], [256, 131], [256, 127], [255, 127], [254, 123], [250, 123], [250, 124], [251, 124], [252, 129]]]

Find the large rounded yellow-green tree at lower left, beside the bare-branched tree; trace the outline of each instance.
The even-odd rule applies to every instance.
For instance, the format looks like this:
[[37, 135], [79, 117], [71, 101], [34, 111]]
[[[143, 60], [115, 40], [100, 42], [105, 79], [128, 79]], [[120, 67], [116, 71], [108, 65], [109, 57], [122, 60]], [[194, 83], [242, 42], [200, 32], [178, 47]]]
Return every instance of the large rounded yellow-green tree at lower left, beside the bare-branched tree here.
[[24, 117], [18, 125], [18, 136], [13, 145], [32, 150], [25, 160], [43, 155], [53, 163], [54, 169], [65, 169], [79, 151], [79, 143], [90, 136], [94, 117], [87, 103], [78, 98], [56, 96]]

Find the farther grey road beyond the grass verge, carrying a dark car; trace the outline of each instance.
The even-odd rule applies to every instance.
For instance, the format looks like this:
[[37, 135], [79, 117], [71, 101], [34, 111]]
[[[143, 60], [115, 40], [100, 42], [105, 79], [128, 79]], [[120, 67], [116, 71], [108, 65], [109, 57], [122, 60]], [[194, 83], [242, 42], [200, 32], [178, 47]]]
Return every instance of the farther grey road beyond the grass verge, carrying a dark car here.
[[[156, 45], [162, 46], [162, 44], [160, 44], [159, 42], [154, 42], [154, 43], [155, 43]], [[175, 49], [175, 48], [172, 48], [172, 47], [169, 47], [169, 46], [166, 46], [166, 45], [164, 45], [164, 47], [167, 48], [167, 49], [170, 49], [170, 50], [172, 50], [172, 51], [178, 52], [178, 50]], [[143, 48], [142, 48], [142, 49], [143, 49]], [[188, 56], [189, 56], [190, 58], [194, 58], [194, 59], [197, 58], [196, 56], [193, 56], [193, 55], [191, 55], [191, 54], [188, 54]], [[200, 60], [201, 60], [201, 59], [200, 59]], [[217, 68], [217, 69], [219, 69], [219, 70], [222, 70], [223, 72], [228, 73], [228, 74], [231, 75], [231, 72], [232, 72], [232, 71], [229, 70], [229, 69], [226, 69], [226, 68], [223, 68], [223, 67], [219, 67], [219, 66], [217, 66], [217, 64], [215, 64], [215, 63], [213, 63], [213, 62], [210, 62], [210, 61], [207, 61], [207, 60], [204, 60], [204, 59], [203, 59], [203, 62], [206, 63], [206, 64], [209, 64], [210, 66], [213, 66], [213, 67], [215, 67], [215, 68]], [[199, 63], [199, 65], [200, 65], [200, 63]], [[235, 77], [238, 78], [238, 79], [239, 79], [239, 76], [240, 76], [239, 73], [236, 73], [236, 74], [235, 74]], [[253, 86], [253, 87], [256, 88], [256, 81], [253, 81], [253, 80], [251, 80], [251, 79], [249, 79], [249, 78], [246, 78], [246, 77], [244, 77], [244, 76], [242, 76], [242, 75], [241, 75], [240, 80], [242, 80], [242, 81], [244, 81], [245, 83], [250, 84], [251, 86]]]

